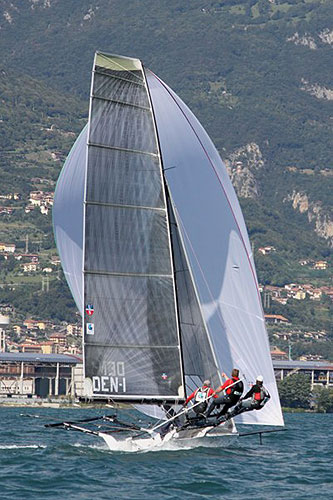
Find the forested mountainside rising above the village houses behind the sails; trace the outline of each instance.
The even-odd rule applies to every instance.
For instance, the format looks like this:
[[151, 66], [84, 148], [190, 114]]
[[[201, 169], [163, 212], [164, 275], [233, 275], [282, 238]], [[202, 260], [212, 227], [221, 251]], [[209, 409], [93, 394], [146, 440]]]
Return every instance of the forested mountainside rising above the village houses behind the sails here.
[[259, 279], [329, 284], [331, 267], [298, 261], [332, 265], [331, 0], [2, 0], [0, 14], [2, 193], [57, 177], [47, 155], [85, 121], [95, 50], [139, 57], [227, 161], [256, 256], [276, 248]]

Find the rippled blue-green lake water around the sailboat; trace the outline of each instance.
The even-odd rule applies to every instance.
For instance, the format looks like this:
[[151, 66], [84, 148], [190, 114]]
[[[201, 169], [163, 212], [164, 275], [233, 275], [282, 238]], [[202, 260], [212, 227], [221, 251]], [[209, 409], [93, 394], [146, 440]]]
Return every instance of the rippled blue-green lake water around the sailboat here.
[[333, 498], [333, 414], [285, 414], [287, 431], [267, 434], [262, 446], [248, 436], [228, 448], [136, 453], [111, 452], [94, 436], [43, 426], [50, 418], [94, 415], [0, 407], [1, 500]]

